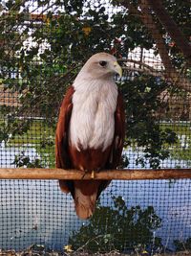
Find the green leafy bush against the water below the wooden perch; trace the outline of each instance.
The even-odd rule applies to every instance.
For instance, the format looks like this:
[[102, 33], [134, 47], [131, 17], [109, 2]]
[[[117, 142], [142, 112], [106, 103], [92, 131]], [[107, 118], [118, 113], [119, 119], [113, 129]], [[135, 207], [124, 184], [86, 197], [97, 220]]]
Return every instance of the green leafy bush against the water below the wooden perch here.
[[128, 209], [123, 198], [113, 198], [113, 201], [114, 207], [99, 203], [88, 224], [82, 225], [70, 237], [69, 244], [74, 250], [95, 253], [137, 247], [162, 248], [160, 238], [153, 235], [161, 220], [152, 206], [144, 210], [139, 206]]

